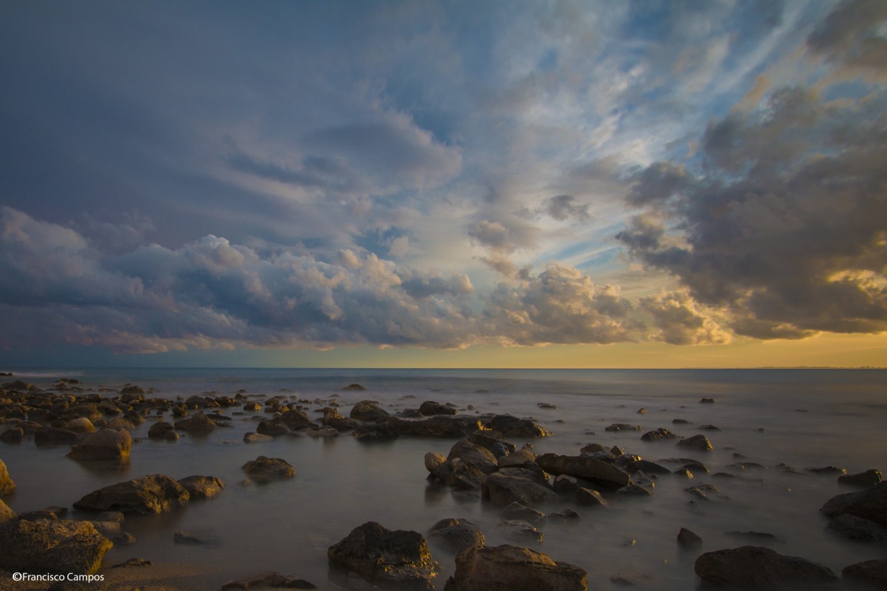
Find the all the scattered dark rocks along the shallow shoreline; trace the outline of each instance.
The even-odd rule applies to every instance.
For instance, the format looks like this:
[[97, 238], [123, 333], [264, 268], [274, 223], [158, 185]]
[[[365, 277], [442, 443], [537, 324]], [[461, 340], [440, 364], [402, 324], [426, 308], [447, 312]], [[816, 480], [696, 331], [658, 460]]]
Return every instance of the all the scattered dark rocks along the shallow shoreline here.
[[[365, 389], [359, 384], [350, 384], [342, 390]], [[449, 488], [454, 494], [474, 496], [498, 506], [502, 517], [499, 527], [515, 544], [488, 547], [483, 532], [475, 524], [455, 517], [438, 522], [427, 532], [390, 531], [383, 524], [367, 522], [329, 548], [331, 568], [345, 573], [344, 587], [349, 587], [349, 580], [356, 580], [356, 573], [357, 578], [382, 588], [436, 586], [449, 591], [480, 591], [530, 585], [564, 591], [585, 589], [587, 573], [583, 569], [556, 562], [553, 557], [522, 545], [542, 540], [542, 532], [534, 525], [542, 520], [556, 524], [579, 518], [571, 509], [546, 516], [540, 508], [572, 500], [577, 508], [607, 510], [611, 503], [652, 499], [660, 478], [690, 480], [703, 475], [732, 476], [728, 472], [711, 474], [701, 461], [693, 459], [648, 461], [639, 455], [624, 453], [618, 445], [588, 444], [579, 446], [572, 455], [536, 455], [533, 445], [526, 444], [519, 449], [508, 439], [552, 435], [537, 422], [509, 414], [459, 414], [454, 405], [433, 400], [424, 400], [418, 407], [404, 408], [396, 414], [373, 400], [361, 400], [351, 406], [345, 416], [340, 413], [341, 405], [335, 395], [306, 400], [287, 396], [253, 397], [245, 391], [233, 396], [213, 392], [185, 399], [153, 394], [133, 384], [114, 391], [96, 391], [74, 379], [61, 379], [47, 388], [20, 380], [7, 382], [0, 386], [0, 441], [15, 445], [33, 437], [35, 445], [67, 449], [66, 454], [72, 461], [122, 462], [128, 461], [132, 453], [131, 432], [145, 422], [153, 423], [147, 437], [175, 442], [179, 437], [205, 437], [216, 429], [230, 429], [232, 419], [238, 414], [253, 414], [255, 418], [255, 430], [242, 437], [244, 445], [277, 437], [339, 437], [341, 434], [350, 434], [367, 445], [399, 437], [457, 439], [446, 456], [426, 453], [424, 463], [429, 482]], [[708, 405], [715, 401], [703, 398], [699, 402]], [[540, 408], [544, 404], [540, 403]], [[309, 413], [320, 416], [313, 420]], [[639, 414], [645, 413], [646, 409], [640, 409]], [[704, 429], [710, 432], [717, 430], [710, 425], [704, 427], [710, 427]], [[640, 427], [628, 423], [614, 423], [605, 429], [606, 432], [621, 430], [638, 432], [643, 441], [671, 445], [676, 453], [681, 449], [698, 453], [713, 449], [704, 434], [678, 437], [665, 428], [640, 434]], [[735, 460], [742, 469], [754, 468], [750, 465], [752, 462], [743, 461], [740, 454], [734, 455], [738, 456]], [[782, 466], [781, 470], [803, 472], [788, 466]], [[251, 480], [269, 484], [295, 476], [295, 469], [287, 461], [263, 455], [247, 461], [242, 471], [246, 477], [244, 483]], [[821, 512], [831, 520], [828, 523], [831, 531], [867, 543], [887, 540], [887, 484], [882, 483], [879, 470], [846, 474], [844, 469], [823, 467], [808, 471], [831, 474], [842, 485], [860, 489], [825, 500]], [[114, 544], [135, 541], [124, 529], [127, 515], [181, 510], [192, 500], [223, 493], [225, 486], [213, 476], [195, 475], [176, 480], [163, 474], [144, 475], [100, 488], [73, 502], [72, 506], [78, 511], [95, 514], [94, 519], [74, 521], [67, 519], [65, 507], [43, 508], [20, 515], [12, 512], [2, 497], [15, 490], [13, 477], [0, 461], [0, 568], [84, 575], [109, 572], [102, 561], [108, 549]], [[691, 503], [718, 502], [726, 498], [711, 483], [687, 486], [685, 490], [693, 497]], [[744, 540], [755, 540], [758, 532], [732, 533]], [[747, 545], [703, 552], [704, 540], [694, 532], [681, 528], [675, 535], [675, 544], [698, 555], [695, 575], [709, 585], [839, 588], [842, 584], [842, 579], [828, 568], [804, 558], [783, 556], [771, 548]], [[431, 556], [426, 536], [455, 553], [455, 570], [445, 582], [436, 581], [440, 563]], [[177, 543], [210, 542], [187, 532], [177, 532]], [[133, 588], [127, 587], [128, 581], [116, 580], [122, 577], [116, 572], [124, 570], [132, 569], [115, 571], [103, 581], [106, 586], [103, 588], [128, 591]], [[887, 588], [885, 572], [887, 561], [864, 561], [848, 564], [842, 577], [844, 581], [862, 581], [875, 588]], [[35, 587], [29, 581], [0, 579], [3, 579], [0, 591], [47, 588], [45, 584]], [[164, 580], [162, 585], [176, 584], [175, 579]], [[631, 577], [611, 580], [615, 585], [626, 584], [626, 581], [632, 585], [637, 583], [632, 582]], [[118, 582], [122, 587], [108, 587]], [[232, 580], [223, 588], [317, 588], [315, 583], [318, 581], [311, 583], [295, 574], [245, 572], [242, 579]], [[68, 587], [49, 588], [63, 591]], [[183, 583], [181, 588], [193, 587]]]

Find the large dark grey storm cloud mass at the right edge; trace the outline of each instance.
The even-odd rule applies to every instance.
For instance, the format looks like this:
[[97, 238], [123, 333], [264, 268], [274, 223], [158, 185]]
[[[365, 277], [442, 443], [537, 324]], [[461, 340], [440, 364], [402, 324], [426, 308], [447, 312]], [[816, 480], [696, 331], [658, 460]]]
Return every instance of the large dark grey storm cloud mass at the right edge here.
[[635, 177], [628, 201], [662, 221], [635, 217], [617, 238], [697, 301], [729, 307], [739, 334], [887, 330], [884, 106], [789, 88], [712, 122], [698, 174], [657, 162]]

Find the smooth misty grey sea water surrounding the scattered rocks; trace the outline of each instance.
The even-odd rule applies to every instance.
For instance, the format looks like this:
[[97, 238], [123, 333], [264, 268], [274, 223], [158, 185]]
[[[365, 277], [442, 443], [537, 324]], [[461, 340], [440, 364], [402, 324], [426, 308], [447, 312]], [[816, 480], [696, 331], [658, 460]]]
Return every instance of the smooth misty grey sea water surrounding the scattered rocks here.
[[[33, 439], [21, 445], [0, 444], [0, 459], [19, 486], [4, 500], [19, 512], [48, 505], [70, 508], [85, 493], [144, 474], [222, 478], [227, 487], [215, 499], [194, 501], [188, 508], [162, 516], [128, 516], [124, 529], [137, 543], [116, 547], [105, 559], [106, 564], [132, 556], [154, 562], [208, 563], [216, 569], [215, 575], [201, 581], [208, 589], [267, 570], [297, 573], [319, 587], [334, 588], [339, 581], [328, 579], [326, 548], [357, 525], [377, 521], [389, 529], [424, 533], [443, 517], [475, 522], [488, 545], [518, 543], [554, 560], [575, 563], [589, 572], [589, 588], [608, 588], [609, 577], [617, 572], [647, 575], [651, 586], [659, 589], [695, 587], [696, 555], [679, 551], [675, 536], [680, 527], [701, 535], [704, 550], [759, 544], [727, 537], [728, 531], [773, 533], [781, 540], [768, 544], [773, 549], [805, 556], [836, 572], [849, 563], [883, 557], [883, 547], [836, 539], [824, 529], [821, 505], [852, 489], [837, 485], [834, 476], [789, 475], [774, 466], [780, 462], [798, 469], [836, 465], [850, 472], [887, 468], [883, 435], [887, 371], [114, 369], [16, 374], [41, 385], [63, 376], [95, 388], [119, 388], [133, 382], [145, 389], [156, 388], [156, 396], [164, 398], [186, 398], [209, 390], [233, 395], [240, 389], [259, 400], [336, 396], [345, 415], [362, 399], [377, 400], [389, 411], [415, 408], [426, 399], [451, 402], [460, 409], [471, 404], [478, 413], [532, 417], [552, 430], [553, 437], [531, 442], [536, 453], [576, 455], [582, 445], [598, 442], [619, 445], [648, 460], [695, 458], [712, 473], [737, 474], [729, 479], [697, 475], [690, 482], [660, 477], [655, 498], [613, 500], [602, 510], [562, 500], [542, 509], [572, 508], [582, 516], [581, 522], [541, 526], [545, 540], [536, 545], [506, 540], [498, 533], [501, 508], [428, 484], [424, 454], [445, 455], [454, 443], [449, 439], [401, 437], [368, 445], [341, 435], [279, 437], [247, 445], [242, 437], [255, 430], [254, 414], [236, 414], [239, 408], [231, 408], [223, 412], [232, 415], [233, 428], [216, 429], [204, 438], [183, 437], [176, 443], [149, 440], [146, 432], [153, 422], [146, 422], [134, 433], [140, 441], [133, 445], [126, 469], [100, 469], [71, 461], [65, 457], [67, 448], [37, 448]], [[360, 382], [369, 390], [339, 391], [350, 382]], [[416, 399], [404, 399], [409, 394]], [[703, 396], [715, 398], [715, 404], [699, 404]], [[538, 402], [558, 408], [540, 409]], [[306, 406], [314, 417], [319, 414], [313, 411], [323, 405]], [[640, 407], [647, 414], [637, 414]], [[801, 409], [806, 412], [797, 412]], [[693, 424], [672, 425], [675, 418]], [[706, 432], [715, 447], [713, 453], [694, 453], [673, 442], [641, 442], [643, 431], [605, 432], [612, 422], [637, 424], [643, 431], [665, 427], [683, 436], [695, 435], [705, 423], [722, 430]], [[518, 446], [525, 443], [515, 437], [510, 440]], [[728, 469], [734, 452], [768, 469], [744, 474]], [[258, 455], [289, 461], [296, 477], [271, 485], [238, 485], [246, 477], [240, 466]], [[705, 482], [717, 485], [732, 500], [701, 501], [693, 508], [688, 503], [692, 497], [683, 489]], [[177, 530], [217, 540], [217, 544], [211, 548], [176, 545], [172, 539]], [[451, 574], [453, 555], [434, 545], [432, 554], [443, 567], [437, 581], [442, 588]]]

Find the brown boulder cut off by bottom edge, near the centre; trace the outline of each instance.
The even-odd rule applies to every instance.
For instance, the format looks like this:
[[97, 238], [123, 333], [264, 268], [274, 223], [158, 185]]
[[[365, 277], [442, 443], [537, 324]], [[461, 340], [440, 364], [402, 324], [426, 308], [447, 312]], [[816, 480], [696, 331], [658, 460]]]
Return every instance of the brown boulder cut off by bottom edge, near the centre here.
[[456, 571], [445, 591], [586, 591], [588, 573], [549, 556], [516, 546], [467, 548], [456, 556]]

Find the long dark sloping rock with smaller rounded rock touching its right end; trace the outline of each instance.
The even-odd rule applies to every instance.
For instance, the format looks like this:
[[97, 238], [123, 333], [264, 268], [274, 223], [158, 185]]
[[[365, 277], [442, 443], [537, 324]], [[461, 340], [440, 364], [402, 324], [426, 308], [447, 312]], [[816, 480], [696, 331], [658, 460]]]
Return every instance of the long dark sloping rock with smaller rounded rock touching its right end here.
[[173, 478], [153, 474], [93, 491], [75, 502], [74, 508], [81, 511], [162, 513], [184, 507], [190, 498], [184, 486]]

